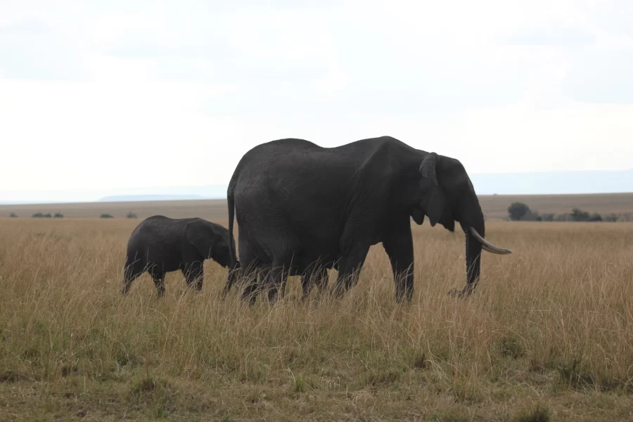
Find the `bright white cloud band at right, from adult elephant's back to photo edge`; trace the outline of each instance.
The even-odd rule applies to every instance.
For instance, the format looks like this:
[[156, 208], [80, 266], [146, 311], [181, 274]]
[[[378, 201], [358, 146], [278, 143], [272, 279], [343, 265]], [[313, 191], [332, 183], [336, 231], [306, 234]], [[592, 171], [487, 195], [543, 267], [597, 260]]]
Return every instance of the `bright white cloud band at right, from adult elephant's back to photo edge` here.
[[535, 109], [522, 102], [471, 108], [439, 122], [380, 119], [366, 122], [357, 134], [390, 134], [423, 151], [458, 158], [473, 174], [627, 170], [632, 115], [633, 105], [566, 102]]

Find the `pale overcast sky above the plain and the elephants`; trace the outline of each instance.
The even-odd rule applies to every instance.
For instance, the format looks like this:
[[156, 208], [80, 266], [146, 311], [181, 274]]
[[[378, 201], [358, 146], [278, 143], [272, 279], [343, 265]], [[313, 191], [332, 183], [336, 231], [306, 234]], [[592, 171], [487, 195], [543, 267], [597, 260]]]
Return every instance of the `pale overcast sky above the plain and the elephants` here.
[[227, 184], [286, 137], [624, 170], [631, 75], [631, 0], [2, 0], [0, 190]]

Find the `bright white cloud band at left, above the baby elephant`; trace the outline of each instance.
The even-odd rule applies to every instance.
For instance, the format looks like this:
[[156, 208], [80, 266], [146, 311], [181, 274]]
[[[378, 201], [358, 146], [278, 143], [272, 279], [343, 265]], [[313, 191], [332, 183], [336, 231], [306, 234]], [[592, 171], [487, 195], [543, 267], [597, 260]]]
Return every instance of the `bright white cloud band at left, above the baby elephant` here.
[[16, 190], [224, 181], [231, 160], [222, 155], [235, 155], [239, 124], [198, 107], [235, 89], [0, 80], [2, 151], [11, 157], [1, 177]]

